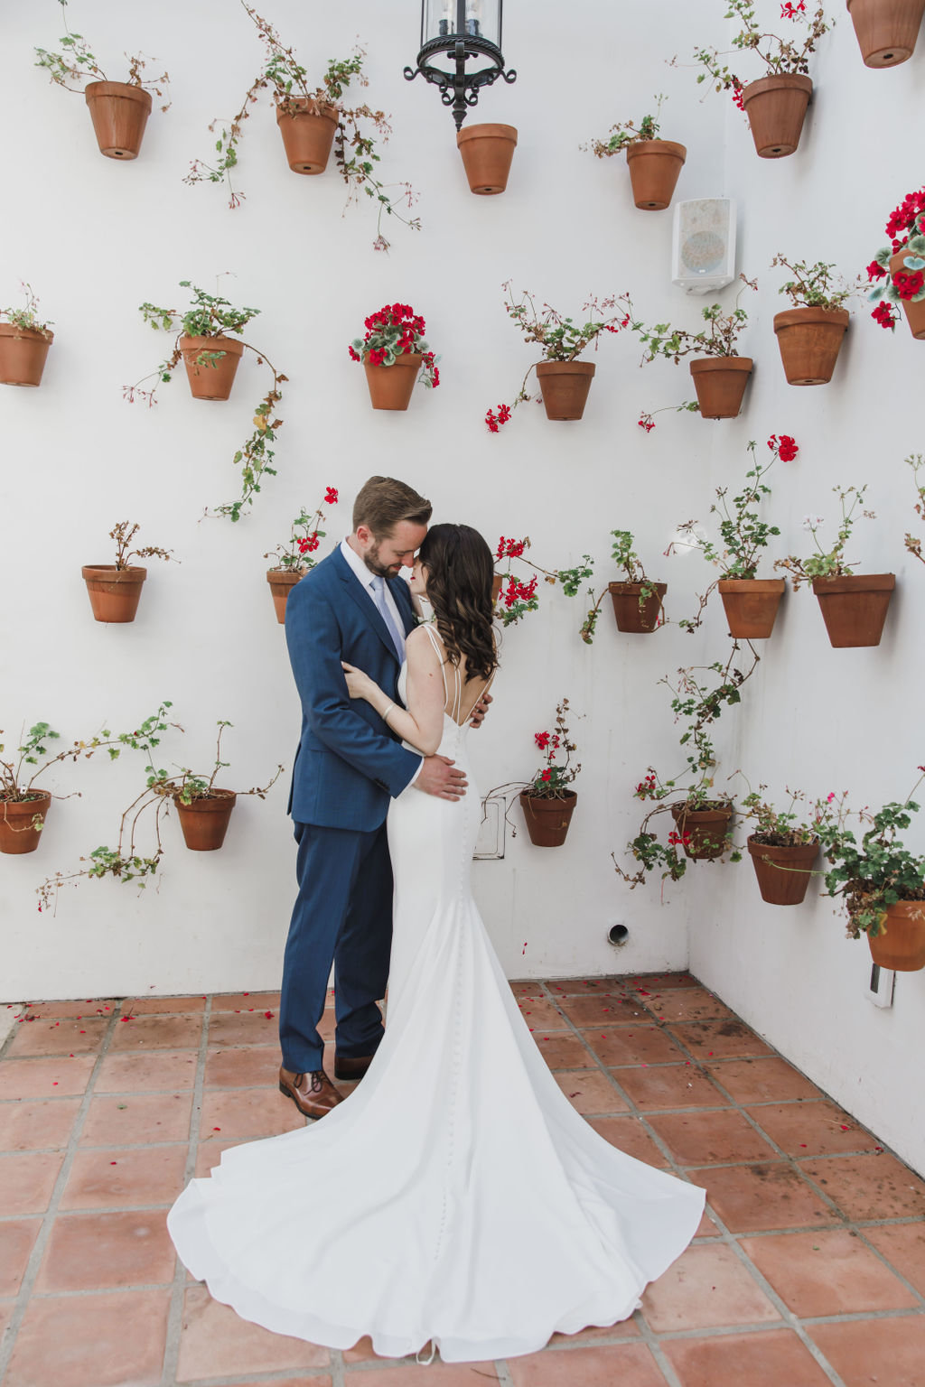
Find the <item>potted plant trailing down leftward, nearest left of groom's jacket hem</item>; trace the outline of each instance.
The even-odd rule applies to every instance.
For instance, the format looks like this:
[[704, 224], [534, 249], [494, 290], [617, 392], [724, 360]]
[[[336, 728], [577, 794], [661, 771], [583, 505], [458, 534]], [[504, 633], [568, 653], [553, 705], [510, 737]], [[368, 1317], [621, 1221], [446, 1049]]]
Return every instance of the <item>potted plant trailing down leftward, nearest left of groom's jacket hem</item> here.
[[[193, 852], [215, 852], [225, 842], [232, 810], [243, 795], [257, 795], [265, 799], [270, 786], [279, 779], [283, 767], [276, 768], [276, 775], [268, 785], [254, 786], [248, 791], [219, 789], [215, 785], [218, 773], [227, 767], [222, 756], [222, 732], [232, 727], [227, 721], [219, 721], [218, 741], [215, 746], [215, 767], [209, 775], [200, 774], [180, 767], [173, 774], [158, 770], [154, 766], [154, 748], [159, 745], [161, 732], [175, 728], [182, 732], [179, 723], [166, 723], [168, 709], [172, 703], [165, 699], [157, 713], [147, 717], [139, 728], [132, 732], [121, 732], [115, 742], [143, 752], [146, 756], [146, 786], [122, 814], [115, 847], [96, 847], [80, 861], [87, 863], [72, 872], [54, 872], [39, 888], [39, 908], [57, 906], [57, 895], [65, 882], [80, 881], [80, 878], [115, 877], [122, 882], [137, 881], [140, 888], [146, 886], [146, 878], [153, 877], [164, 854], [161, 842], [161, 818], [175, 806], [183, 831], [186, 846]], [[108, 734], [104, 734], [108, 735]], [[112, 752], [110, 753], [112, 755]], [[118, 750], [115, 752], [118, 756]], [[154, 850], [150, 857], [143, 856], [136, 845], [137, 825], [146, 810], [154, 810]], [[151, 816], [148, 816], [151, 817]]]

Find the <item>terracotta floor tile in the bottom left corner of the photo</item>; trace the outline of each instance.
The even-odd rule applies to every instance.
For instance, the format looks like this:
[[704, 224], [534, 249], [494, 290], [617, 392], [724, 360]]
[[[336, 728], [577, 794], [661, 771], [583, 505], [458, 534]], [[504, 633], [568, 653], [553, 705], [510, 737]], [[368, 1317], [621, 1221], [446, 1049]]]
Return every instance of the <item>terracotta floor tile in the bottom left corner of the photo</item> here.
[[166, 1290], [32, 1300], [4, 1387], [157, 1387], [169, 1304]]

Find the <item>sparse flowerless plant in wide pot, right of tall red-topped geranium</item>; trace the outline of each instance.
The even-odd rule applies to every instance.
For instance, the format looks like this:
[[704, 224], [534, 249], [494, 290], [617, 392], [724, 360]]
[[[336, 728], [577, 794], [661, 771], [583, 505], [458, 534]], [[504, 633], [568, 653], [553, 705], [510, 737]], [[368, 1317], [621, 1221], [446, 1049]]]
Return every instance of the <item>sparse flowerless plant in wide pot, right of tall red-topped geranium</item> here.
[[[886, 612], [896, 587], [896, 574], [851, 573], [856, 565], [845, 560], [845, 546], [851, 538], [851, 528], [858, 519], [858, 508], [863, 508], [867, 483], [863, 487], [832, 487], [832, 491], [839, 498], [842, 508], [838, 538], [832, 548], [824, 549], [817, 538], [818, 527], [825, 523], [824, 517], [806, 516], [803, 528], [813, 535], [815, 553], [807, 559], [790, 555], [786, 559], [778, 559], [774, 567], [786, 569], [790, 573], [795, 592], [800, 583], [813, 584], [829, 642], [836, 649], [854, 645], [879, 645]], [[867, 520], [875, 519], [872, 510], [861, 509], [861, 515]]]

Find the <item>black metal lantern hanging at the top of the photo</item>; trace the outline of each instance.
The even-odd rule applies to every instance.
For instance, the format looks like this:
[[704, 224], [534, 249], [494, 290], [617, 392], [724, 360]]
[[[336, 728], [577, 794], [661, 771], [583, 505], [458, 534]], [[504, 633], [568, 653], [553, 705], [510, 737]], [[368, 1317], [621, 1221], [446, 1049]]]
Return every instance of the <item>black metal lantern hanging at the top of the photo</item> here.
[[466, 119], [466, 107], [478, 101], [478, 87], [498, 78], [516, 82], [505, 72], [501, 51], [503, 0], [422, 0], [420, 53], [417, 67], [405, 68], [405, 79], [417, 74], [434, 82], [444, 105], [452, 105], [456, 129]]

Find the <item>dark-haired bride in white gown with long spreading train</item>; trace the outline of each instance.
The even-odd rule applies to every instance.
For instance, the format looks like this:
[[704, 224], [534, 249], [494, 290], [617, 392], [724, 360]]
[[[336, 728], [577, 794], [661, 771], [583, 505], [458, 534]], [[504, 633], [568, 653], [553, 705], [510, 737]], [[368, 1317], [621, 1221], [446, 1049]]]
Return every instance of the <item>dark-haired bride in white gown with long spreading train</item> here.
[[470, 890], [480, 822], [467, 723], [495, 671], [492, 558], [434, 526], [412, 594], [406, 710], [345, 666], [415, 749], [452, 757], [460, 800], [392, 800], [386, 1036], [323, 1122], [225, 1151], [168, 1218], [212, 1295], [280, 1334], [384, 1356], [510, 1358], [613, 1325], [684, 1251], [703, 1190], [612, 1147], [581, 1118], [520, 1015]]

